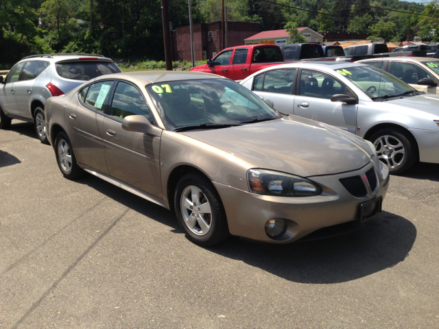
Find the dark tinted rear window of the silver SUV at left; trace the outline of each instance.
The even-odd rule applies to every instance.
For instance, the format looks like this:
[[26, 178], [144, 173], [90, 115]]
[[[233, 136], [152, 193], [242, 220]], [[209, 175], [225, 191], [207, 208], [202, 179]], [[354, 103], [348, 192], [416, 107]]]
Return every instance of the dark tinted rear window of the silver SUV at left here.
[[60, 77], [69, 80], [88, 81], [105, 74], [121, 73], [112, 62], [61, 62], [55, 64]]

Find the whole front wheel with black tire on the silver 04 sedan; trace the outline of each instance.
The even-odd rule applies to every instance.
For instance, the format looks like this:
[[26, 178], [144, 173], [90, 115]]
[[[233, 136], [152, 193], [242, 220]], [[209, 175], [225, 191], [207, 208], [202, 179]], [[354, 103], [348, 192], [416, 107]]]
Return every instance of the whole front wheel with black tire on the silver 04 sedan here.
[[418, 160], [418, 145], [413, 136], [397, 128], [381, 129], [370, 136], [378, 159], [392, 175], [410, 169]]

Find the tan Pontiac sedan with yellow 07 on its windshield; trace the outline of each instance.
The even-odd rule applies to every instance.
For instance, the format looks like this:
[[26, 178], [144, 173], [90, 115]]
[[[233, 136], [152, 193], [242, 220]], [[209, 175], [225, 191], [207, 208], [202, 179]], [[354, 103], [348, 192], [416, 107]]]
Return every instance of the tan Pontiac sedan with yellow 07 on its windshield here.
[[48, 99], [45, 110], [66, 178], [87, 171], [174, 210], [201, 245], [357, 228], [379, 214], [388, 189], [371, 143], [279, 114], [217, 75], [106, 75]]

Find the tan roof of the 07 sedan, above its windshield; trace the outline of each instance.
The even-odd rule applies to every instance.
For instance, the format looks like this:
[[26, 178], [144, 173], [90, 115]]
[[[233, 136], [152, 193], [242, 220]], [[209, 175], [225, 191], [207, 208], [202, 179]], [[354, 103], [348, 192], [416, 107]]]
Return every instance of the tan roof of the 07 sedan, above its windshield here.
[[101, 75], [100, 77], [97, 77], [96, 80], [101, 79], [123, 79], [132, 82], [138, 82], [139, 84], [156, 84], [158, 82], [171, 82], [181, 80], [226, 79], [226, 77], [203, 72], [137, 71]]

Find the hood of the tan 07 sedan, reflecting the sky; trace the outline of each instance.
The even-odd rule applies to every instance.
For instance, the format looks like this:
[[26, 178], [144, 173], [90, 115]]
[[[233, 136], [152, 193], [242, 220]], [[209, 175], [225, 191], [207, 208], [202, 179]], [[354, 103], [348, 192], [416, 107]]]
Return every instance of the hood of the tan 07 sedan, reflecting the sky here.
[[370, 162], [372, 155], [361, 138], [294, 116], [181, 134], [227, 151], [254, 167], [302, 177], [353, 171]]

